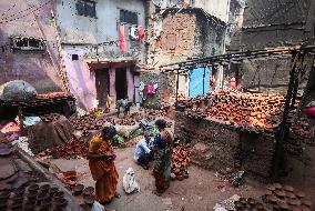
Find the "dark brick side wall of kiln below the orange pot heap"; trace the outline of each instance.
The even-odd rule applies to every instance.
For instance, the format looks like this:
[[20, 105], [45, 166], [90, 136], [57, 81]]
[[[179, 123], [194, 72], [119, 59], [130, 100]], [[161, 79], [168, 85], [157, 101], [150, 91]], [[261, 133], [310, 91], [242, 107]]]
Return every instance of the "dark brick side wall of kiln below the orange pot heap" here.
[[206, 169], [238, 167], [247, 175], [267, 180], [271, 175], [275, 138], [250, 134], [212, 120], [193, 120], [176, 112], [175, 137], [192, 143], [193, 162]]

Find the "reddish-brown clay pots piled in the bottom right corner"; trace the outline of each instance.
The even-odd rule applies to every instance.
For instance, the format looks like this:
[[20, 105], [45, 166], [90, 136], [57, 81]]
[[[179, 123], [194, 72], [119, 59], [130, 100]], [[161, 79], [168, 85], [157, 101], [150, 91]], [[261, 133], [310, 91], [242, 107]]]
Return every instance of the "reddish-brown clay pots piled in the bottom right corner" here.
[[274, 210], [311, 211], [311, 199], [304, 192], [297, 191], [291, 185], [280, 183], [268, 184], [265, 197]]

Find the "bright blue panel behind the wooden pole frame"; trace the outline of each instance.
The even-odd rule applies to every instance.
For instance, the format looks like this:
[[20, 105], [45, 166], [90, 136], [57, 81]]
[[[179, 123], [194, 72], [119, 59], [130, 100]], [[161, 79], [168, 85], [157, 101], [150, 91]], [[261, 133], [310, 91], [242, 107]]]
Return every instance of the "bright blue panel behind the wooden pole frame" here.
[[195, 98], [206, 94], [210, 91], [210, 69], [195, 68], [190, 71], [190, 91], [189, 97]]

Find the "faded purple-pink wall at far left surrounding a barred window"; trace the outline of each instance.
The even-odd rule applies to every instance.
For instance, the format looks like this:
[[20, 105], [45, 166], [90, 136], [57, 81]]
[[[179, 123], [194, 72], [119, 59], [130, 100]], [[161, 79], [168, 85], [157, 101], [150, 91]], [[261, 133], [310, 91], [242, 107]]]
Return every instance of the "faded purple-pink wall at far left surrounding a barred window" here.
[[[2, 14], [0, 84], [21, 79], [31, 83], [38, 92], [60, 90], [57, 31], [51, 17], [54, 7], [53, 1], [44, 0], [0, 1], [0, 14]], [[47, 40], [49, 51], [43, 53], [12, 51], [10, 49], [12, 36]]]

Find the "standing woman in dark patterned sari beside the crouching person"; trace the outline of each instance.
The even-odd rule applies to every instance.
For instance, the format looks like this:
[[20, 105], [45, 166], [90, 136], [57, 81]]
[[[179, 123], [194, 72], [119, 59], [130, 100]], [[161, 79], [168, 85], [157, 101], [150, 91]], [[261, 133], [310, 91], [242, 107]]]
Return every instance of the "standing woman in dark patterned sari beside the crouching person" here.
[[155, 125], [159, 133], [154, 138], [153, 175], [155, 178], [156, 194], [161, 195], [170, 187], [173, 140], [165, 129], [165, 120], [158, 120]]

